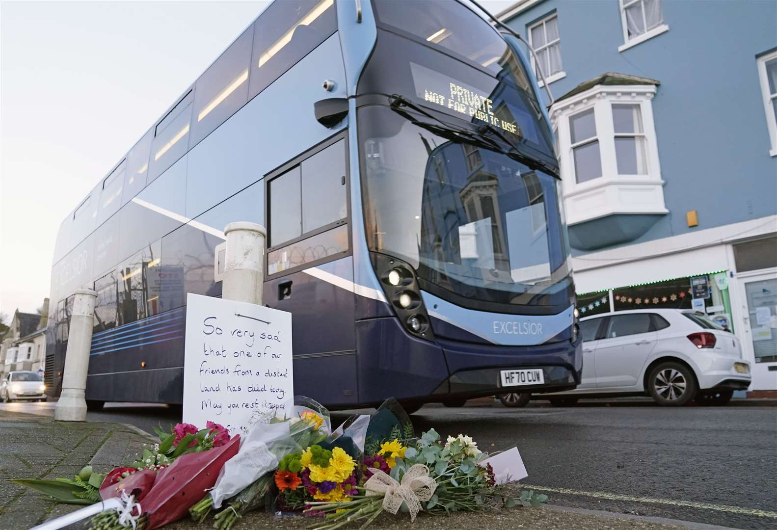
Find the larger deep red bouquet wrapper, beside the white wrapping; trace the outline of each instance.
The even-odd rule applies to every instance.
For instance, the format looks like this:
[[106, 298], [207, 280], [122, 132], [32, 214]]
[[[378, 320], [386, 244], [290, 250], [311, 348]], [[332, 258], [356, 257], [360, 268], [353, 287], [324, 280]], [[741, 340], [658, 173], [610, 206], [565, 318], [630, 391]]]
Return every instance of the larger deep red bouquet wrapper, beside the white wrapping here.
[[218, 479], [224, 464], [237, 455], [240, 436], [220, 447], [179, 456], [172, 464], [159, 472], [154, 486], [143, 503], [148, 514], [146, 530], [159, 528], [189, 514], [189, 508], [197, 504]]

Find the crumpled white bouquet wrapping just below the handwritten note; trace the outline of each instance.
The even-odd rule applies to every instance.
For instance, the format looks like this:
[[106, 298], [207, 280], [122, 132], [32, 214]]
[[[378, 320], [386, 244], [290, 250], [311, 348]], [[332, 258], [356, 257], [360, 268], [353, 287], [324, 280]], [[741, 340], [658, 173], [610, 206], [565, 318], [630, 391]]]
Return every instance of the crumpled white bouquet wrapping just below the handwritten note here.
[[220, 508], [232, 497], [267, 472], [278, 467], [280, 459], [301, 448], [289, 431], [289, 423], [254, 424], [243, 439], [235, 458], [230, 459], [218, 474], [211, 490], [213, 507]]

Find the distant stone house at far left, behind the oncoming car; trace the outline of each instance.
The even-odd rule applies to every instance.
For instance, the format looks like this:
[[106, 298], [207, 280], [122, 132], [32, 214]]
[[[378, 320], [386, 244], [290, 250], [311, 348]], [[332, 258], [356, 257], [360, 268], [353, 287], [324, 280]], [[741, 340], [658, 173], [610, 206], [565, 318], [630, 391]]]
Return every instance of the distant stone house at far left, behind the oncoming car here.
[[40, 315], [23, 313], [19, 309], [14, 312], [9, 330], [0, 344], [0, 379], [9, 371], [44, 370], [48, 303], [48, 298], [45, 298]]

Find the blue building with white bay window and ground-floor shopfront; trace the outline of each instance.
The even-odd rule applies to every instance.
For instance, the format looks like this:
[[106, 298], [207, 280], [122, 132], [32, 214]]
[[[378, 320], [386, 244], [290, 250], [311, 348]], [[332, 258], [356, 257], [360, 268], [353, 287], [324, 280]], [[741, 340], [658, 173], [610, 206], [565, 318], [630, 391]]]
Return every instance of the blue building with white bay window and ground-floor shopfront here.
[[582, 316], [704, 310], [740, 337], [751, 390], [777, 389], [777, 3], [519, 0], [499, 17], [555, 97]]

